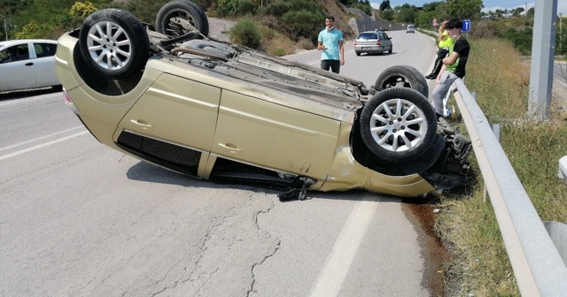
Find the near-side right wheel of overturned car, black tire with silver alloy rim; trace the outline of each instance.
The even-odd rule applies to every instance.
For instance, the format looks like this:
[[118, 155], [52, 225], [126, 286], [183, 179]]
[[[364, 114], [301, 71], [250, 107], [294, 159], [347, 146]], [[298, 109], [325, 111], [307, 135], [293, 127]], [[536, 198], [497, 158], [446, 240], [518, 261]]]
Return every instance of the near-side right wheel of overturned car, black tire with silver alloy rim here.
[[435, 111], [411, 88], [388, 88], [362, 108], [361, 138], [385, 163], [408, 162], [422, 156], [435, 140]]

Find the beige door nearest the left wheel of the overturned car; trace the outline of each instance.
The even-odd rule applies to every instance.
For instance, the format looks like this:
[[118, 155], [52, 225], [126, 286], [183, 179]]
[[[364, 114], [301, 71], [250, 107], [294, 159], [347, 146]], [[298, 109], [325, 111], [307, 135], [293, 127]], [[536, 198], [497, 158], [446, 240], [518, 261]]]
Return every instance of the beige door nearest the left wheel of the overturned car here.
[[162, 73], [122, 118], [117, 132], [208, 152], [220, 98], [220, 88]]

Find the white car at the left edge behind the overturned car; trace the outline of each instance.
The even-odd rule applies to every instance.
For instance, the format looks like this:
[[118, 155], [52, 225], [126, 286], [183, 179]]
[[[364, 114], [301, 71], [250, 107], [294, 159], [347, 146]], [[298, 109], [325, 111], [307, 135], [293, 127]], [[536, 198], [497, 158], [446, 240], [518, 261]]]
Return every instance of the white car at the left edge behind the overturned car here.
[[0, 42], [0, 92], [58, 87], [57, 41], [22, 39]]

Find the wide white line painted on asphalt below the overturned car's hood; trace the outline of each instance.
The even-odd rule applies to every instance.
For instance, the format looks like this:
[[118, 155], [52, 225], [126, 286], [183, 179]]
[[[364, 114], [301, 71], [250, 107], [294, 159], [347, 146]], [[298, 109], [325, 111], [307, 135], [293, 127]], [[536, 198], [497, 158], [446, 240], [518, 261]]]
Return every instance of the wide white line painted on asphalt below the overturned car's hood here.
[[343, 230], [338, 235], [338, 240], [333, 246], [332, 252], [319, 275], [315, 289], [309, 295], [310, 297], [335, 297], [338, 295], [376, 208], [377, 202], [375, 201], [356, 203]]

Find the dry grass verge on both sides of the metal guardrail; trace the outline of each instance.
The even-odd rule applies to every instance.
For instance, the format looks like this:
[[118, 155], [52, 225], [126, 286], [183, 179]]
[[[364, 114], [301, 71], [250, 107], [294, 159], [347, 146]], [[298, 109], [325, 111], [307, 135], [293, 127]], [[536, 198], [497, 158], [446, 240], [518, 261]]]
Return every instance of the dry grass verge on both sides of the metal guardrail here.
[[[527, 117], [530, 61], [509, 42], [471, 40], [465, 83], [491, 123], [501, 124], [501, 146], [543, 221], [567, 221], [567, 187], [557, 178], [557, 162], [567, 155], [567, 125], [552, 110], [552, 118], [537, 122]], [[458, 112], [455, 115], [459, 118]], [[564, 118], [564, 117], [563, 117]], [[457, 124], [457, 123], [455, 123]], [[458, 124], [457, 124], [458, 125]], [[484, 202], [484, 182], [478, 179], [461, 193], [439, 200], [444, 209], [436, 232], [454, 260], [446, 264], [451, 295], [518, 296], [501, 232], [490, 200]]]

